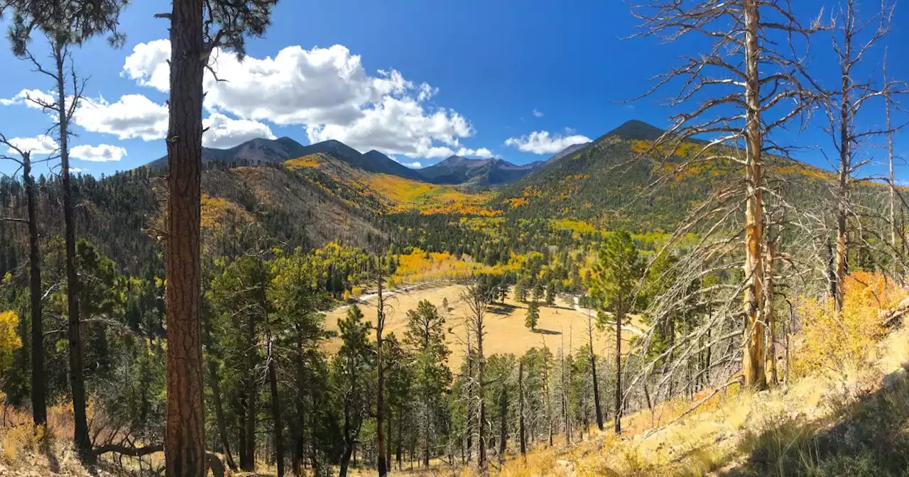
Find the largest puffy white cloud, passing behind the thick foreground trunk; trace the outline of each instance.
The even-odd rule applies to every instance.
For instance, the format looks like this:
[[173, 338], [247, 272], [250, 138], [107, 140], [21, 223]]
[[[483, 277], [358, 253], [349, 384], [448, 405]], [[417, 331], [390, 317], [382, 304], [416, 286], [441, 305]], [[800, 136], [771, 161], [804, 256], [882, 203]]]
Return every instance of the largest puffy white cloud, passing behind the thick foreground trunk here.
[[[167, 40], [136, 45], [122, 75], [167, 91], [169, 56]], [[243, 63], [215, 50], [212, 69], [214, 74], [205, 73], [206, 109], [251, 122], [303, 125], [314, 143], [335, 139], [360, 151], [441, 157], [474, 134], [464, 116], [429, 104], [437, 88], [396, 70], [371, 75], [343, 45], [288, 46], [274, 57], [247, 56]]]

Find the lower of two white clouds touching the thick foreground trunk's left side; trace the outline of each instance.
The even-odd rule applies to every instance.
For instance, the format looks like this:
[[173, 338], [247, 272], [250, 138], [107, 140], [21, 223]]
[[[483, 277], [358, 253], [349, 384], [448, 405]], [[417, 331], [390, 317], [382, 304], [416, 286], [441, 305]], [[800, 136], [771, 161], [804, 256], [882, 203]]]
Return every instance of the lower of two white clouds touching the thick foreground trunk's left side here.
[[115, 103], [104, 98], [83, 101], [75, 112], [75, 124], [92, 133], [115, 134], [120, 139], [164, 139], [167, 134], [167, 106], [156, 104], [142, 94], [125, 94]]

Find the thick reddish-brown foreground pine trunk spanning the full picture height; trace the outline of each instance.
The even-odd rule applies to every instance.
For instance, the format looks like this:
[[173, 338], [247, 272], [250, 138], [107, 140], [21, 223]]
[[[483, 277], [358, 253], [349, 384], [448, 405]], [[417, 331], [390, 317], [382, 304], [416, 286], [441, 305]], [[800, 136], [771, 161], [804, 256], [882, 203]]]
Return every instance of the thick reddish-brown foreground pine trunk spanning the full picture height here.
[[203, 1], [174, 0], [167, 133], [168, 477], [205, 475], [205, 412], [199, 305], [202, 168]]

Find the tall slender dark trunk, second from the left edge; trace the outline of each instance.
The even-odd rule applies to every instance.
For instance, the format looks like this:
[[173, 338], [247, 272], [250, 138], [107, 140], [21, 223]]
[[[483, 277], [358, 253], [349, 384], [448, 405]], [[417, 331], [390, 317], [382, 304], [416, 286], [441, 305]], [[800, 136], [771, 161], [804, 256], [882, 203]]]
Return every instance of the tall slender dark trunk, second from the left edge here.
[[57, 81], [57, 111], [60, 133], [60, 177], [63, 183], [64, 238], [66, 243], [66, 311], [69, 338], [69, 379], [73, 392], [73, 419], [75, 421], [75, 448], [79, 459], [95, 463], [88, 421], [85, 416], [85, 363], [79, 317], [79, 275], [75, 269], [75, 219], [73, 218], [73, 184], [69, 170], [69, 107], [65, 90], [65, 49], [57, 43], [54, 47]]

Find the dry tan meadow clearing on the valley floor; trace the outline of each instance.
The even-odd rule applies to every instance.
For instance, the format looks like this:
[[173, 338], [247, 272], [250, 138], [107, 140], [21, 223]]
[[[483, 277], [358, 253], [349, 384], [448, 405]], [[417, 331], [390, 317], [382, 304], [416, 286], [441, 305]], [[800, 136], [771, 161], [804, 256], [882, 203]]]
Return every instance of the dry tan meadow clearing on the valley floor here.
[[[386, 301], [392, 308], [386, 312], [385, 333], [394, 332], [398, 338], [405, 333], [407, 311], [416, 309], [421, 300], [429, 300], [441, 311], [443, 298], [448, 298], [448, 305], [452, 310], [446, 315], [446, 325], [450, 329], [448, 346], [452, 353], [448, 364], [452, 369], [458, 369], [464, 361], [466, 342], [464, 341], [464, 318], [468, 308], [460, 298], [464, 291], [461, 285], [445, 285], [435, 288], [412, 290], [409, 292], [395, 293]], [[375, 324], [375, 296], [368, 296], [365, 303], [360, 303], [367, 320]], [[325, 326], [330, 330], [337, 330], [338, 318], [347, 313], [347, 307], [341, 307], [328, 313], [325, 317]], [[587, 316], [583, 311], [575, 311], [574, 304], [569, 297], [560, 296], [553, 306], [540, 303], [540, 321], [535, 332], [524, 326], [524, 316], [527, 314], [527, 304], [514, 300], [512, 293], [505, 299], [504, 305], [496, 303], [490, 307], [486, 314], [486, 336], [484, 338], [484, 353], [490, 356], [495, 353], [524, 352], [534, 346], [540, 347], [545, 343], [553, 353], [563, 346], [566, 349], [576, 350], [587, 342]], [[633, 320], [633, 326], [635, 323]], [[629, 341], [634, 337], [632, 331], [623, 331], [623, 351], [628, 349]], [[594, 349], [597, 354], [612, 353], [614, 350], [615, 328], [606, 326], [601, 331], [594, 331]], [[334, 351], [339, 343], [334, 340], [329, 343], [329, 349]]]

